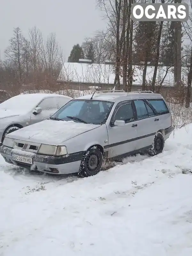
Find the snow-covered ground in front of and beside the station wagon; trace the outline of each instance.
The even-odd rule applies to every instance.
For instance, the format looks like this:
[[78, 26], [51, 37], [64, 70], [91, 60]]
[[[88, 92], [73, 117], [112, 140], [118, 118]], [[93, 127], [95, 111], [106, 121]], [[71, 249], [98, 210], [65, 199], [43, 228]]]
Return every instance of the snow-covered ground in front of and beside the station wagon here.
[[0, 158], [1, 256], [191, 256], [192, 125], [155, 157], [94, 177], [22, 173]]

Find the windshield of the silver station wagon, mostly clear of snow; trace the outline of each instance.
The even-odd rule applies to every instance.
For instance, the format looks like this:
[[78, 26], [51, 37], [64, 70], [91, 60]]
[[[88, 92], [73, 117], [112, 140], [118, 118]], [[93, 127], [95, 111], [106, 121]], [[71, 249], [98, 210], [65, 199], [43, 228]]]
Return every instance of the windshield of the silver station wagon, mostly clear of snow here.
[[51, 119], [103, 124], [106, 122], [113, 104], [113, 102], [101, 100], [71, 100], [60, 108]]

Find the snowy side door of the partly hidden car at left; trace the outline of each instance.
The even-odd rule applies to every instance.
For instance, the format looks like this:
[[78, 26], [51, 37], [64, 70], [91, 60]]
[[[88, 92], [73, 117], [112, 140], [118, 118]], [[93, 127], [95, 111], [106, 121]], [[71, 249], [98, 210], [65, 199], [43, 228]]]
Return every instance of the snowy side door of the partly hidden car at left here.
[[31, 114], [30, 124], [35, 124], [37, 122], [41, 122], [50, 116], [52, 116], [57, 109], [57, 98], [56, 97], [48, 97], [42, 100], [36, 107], [41, 108], [42, 112], [34, 115]]

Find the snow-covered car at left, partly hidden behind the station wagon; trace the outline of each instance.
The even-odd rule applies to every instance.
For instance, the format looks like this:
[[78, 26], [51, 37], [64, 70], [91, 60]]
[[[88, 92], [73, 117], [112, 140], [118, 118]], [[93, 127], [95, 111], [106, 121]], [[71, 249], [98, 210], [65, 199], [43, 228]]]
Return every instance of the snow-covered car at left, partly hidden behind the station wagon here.
[[72, 98], [59, 94], [21, 94], [0, 104], [0, 145], [6, 134], [43, 121]]

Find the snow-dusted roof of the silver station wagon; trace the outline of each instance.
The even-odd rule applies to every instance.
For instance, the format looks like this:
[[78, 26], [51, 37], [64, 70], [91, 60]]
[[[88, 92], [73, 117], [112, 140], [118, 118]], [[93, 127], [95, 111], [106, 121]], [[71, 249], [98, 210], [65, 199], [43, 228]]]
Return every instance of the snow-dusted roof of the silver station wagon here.
[[[92, 94], [85, 95], [82, 97], [77, 98], [78, 100], [90, 100]], [[138, 93], [138, 92], [107, 92], [107, 93], [96, 93], [93, 96], [94, 100], [105, 100], [105, 101], [123, 101], [123, 100], [131, 100], [137, 98], [162, 98], [160, 94], [157, 93]], [[76, 99], [76, 100], [77, 100]]]

